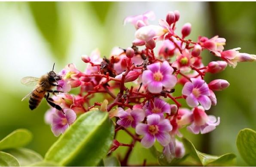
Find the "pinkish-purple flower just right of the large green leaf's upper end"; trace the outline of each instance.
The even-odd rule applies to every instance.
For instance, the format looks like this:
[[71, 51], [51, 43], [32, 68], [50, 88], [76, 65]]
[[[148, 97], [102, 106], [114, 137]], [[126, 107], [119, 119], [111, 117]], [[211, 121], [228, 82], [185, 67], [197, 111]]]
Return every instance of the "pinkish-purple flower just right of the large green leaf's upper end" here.
[[128, 108], [124, 111], [123, 108], [118, 108], [117, 117], [120, 118], [116, 123], [120, 126], [123, 126], [125, 128], [131, 126], [135, 128], [137, 124], [144, 120], [145, 113], [142, 109], [136, 108], [131, 110]]

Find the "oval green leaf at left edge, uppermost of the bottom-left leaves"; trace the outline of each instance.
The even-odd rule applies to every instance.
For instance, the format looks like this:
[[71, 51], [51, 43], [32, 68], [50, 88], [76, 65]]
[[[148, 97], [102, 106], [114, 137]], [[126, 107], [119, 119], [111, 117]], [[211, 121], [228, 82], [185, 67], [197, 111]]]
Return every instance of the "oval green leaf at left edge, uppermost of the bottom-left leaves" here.
[[32, 139], [32, 133], [27, 129], [17, 129], [0, 141], [0, 150], [27, 145]]

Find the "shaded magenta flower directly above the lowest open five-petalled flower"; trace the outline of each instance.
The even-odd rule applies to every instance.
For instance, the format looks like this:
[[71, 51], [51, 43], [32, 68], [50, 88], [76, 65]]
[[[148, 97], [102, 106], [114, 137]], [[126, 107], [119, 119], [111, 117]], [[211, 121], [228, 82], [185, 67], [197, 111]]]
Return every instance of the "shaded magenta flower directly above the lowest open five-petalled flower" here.
[[146, 103], [143, 106], [143, 109], [146, 111], [146, 116], [150, 114], [158, 114], [164, 118], [164, 113], [171, 114], [171, 107], [164, 100], [155, 98], [153, 106], [151, 103]]

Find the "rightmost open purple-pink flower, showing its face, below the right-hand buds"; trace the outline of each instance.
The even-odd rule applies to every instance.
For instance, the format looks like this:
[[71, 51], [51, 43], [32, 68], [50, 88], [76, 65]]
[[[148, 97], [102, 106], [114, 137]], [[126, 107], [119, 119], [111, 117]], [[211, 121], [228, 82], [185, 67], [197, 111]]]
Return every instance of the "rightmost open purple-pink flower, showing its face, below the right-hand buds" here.
[[[203, 79], [191, 78], [192, 82], [186, 82], [182, 94], [187, 96], [186, 102], [190, 107], [196, 107], [199, 103], [208, 110], [211, 106], [210, 91]], [[198, 103], [199, 102], [199, 103]]]

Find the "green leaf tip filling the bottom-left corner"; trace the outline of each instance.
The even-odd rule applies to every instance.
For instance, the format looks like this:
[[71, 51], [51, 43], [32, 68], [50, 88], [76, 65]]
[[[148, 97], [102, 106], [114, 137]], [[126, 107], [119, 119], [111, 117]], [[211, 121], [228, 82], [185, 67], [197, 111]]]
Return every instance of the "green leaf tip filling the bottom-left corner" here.
[[20, 167], [20, 164], [11, 154], [0, 151], [0, 167]]

